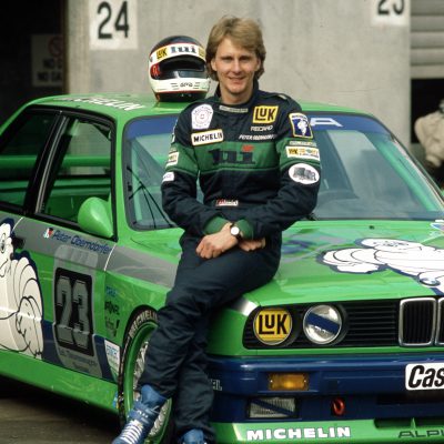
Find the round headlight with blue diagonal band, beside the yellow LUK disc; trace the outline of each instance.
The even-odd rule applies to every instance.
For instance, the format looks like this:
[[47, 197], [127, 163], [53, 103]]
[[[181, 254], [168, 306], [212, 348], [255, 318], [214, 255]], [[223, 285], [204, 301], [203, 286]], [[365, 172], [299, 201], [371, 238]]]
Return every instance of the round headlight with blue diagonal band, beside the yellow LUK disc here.
[[305, 336], [313, 343], [326, 345], [332, 343], [342, 331], [342, 316], [332, 305], [315, 305], [304, 315]]

